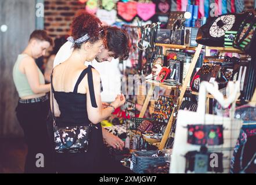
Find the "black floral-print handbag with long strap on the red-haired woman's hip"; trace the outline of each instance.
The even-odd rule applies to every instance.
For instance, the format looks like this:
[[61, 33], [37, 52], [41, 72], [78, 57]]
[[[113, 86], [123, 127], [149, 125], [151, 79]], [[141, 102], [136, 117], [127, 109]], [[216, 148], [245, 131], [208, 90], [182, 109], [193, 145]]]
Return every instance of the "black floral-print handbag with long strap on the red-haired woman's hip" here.
[[[87, 126], [77, 125], [63, 122], [56, 119], [53, 103], [53, 84], [51, 75], [51, 95], [52, 95], [52, 119], [55, 151], [57, 153], [79, 153], [88, 151], [89, 136], [91, 135], [92, 123]], [[66, 127], [58, 125], [67, 125]]]

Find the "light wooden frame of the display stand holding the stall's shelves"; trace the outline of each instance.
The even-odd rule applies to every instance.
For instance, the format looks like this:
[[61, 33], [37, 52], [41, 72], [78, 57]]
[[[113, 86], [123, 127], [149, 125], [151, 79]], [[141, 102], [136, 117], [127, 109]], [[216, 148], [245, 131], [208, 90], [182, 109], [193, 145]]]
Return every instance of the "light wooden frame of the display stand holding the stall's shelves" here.
[[[180, 90], [181, 90], [181, 94], [180, 94], [180, 97], [179, 97], [179, 106], [178, 106], [178, 110], [181, 106], [181, 103], [183, 101], [183, 97], [185, 95], [185, 92], [187, 90], [187, 87], [188, 87], [188, 83], [191, 79], [191, 76], [192, 76], [192, 73], [193, 73], [193, 70], [194, 70], [194, 67], [196, 66], [196, 62], [200, 56], [200, 52], [201, 50], [203, 49], [203, 45], [198, 45], [197, 47], [189, 47], [189, 46], [180, 46], [180, 45], [165, 45], [165, 44], [158, 44], [156, 43], [156, 46], [162, 46], [163, 47], [163, 51], [165, 53], [165, 50], [166, 49], [181, 49], [181, 50], [195, 50], [196, 52], [194, 53], [194, 57], [193, 57], [193, 60], [190, 64], [190, 67], [189, 67], [189, 71], [185, 77], [185, 80], [182, 84], [182, 86], [180, 87]], [[226, 47], [205, 47], [205, 56], [210, 56], [210, 50], [211, 49], [215, 49], [215, 50], [218, 50], [219, 52], [230, 52], [230, 53], [243, 53], [242, 51], [240, 50], [237, 50], [237, 49], [234, 49], [234, 48], [226, 48]], [[145, 102], [143, 103], [143, 106], [142, 106], [142, 110], [139, 114], [139, 117], [143, 117], [146, 110], [147, 110], [147, 106], [149, 105], [149, 101], [153, 95], [153, 92], [154, 92], [154, 88], [156, 86], [158, 87], [163, 87], [163, 88], [166, 88], [168, 90], [175, 90], [176, 89], [176, 86], [168, 86], [168, 85], [165, 85], [165, 84], [162, 84], [162, 83], [159, 83], [159, 82], [154, 82], [152, 80], [148, 80], [147, 83], [150, 84], [150, 88], [149, 88], [149, 92], [147, 92], [147, 97], [145, 99]], [[192, 94], [197, 94], [197, 92], [193, 92], [192, 91]], [[254, 92], [254, 99], [256, 99], [256, 91]], [[207, 105], [209, 105], [209, 101], [210, 101], [210, 98], [213, 98], [211, 95], [209, 95], [207, 97]], [[209, 110], [209, 106], [207, 106], [207, 112]], [[175, 115], [177, 116], [177, 115]], [[173, 117], [174, 117], [174, 111], [172, 111], [172, 114], [171, 114], [171, 117], [168, 121], [168, 124], [167, 124], [167, 128], [165, 129], [165, 132], [164, 132], [164, 135], [163, 135], [163, 138], [161, 139], [161, 142], [160, 143], [154, 143], [154, 145], [156, 145], [158, 147], [158, 149], [162, 150], [164, 149], [165, 147], [165, 144], [167, 142], [167, 139], [168, 137], [170, 136], [170, 132], [171, 132], [171, 128], [172, 128], [172, 120], [173, 120]]]

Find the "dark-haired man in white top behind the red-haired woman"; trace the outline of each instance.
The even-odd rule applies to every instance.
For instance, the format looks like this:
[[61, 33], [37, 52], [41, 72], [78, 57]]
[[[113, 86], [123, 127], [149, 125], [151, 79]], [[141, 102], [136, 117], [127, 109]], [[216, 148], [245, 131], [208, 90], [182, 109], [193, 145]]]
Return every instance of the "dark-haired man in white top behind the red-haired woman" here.
[[[106, 29], [104, 49], [92, 62], [85, 61], [85, 65], [91, 64], [100, 73], [103, 86], [102, 101], [113, 102], [121, 91], [121, 74], [118, 70], [118, 63], [119, 60], [127, 60], [129, 57], [129, 39], [127, 34], [120, 28], [104, 26], [103, 29]], [[53, 68], [71, 56], [73, 51], [71, 46], [71, 42], [66, 42], [60, 47], [56, 54]]]

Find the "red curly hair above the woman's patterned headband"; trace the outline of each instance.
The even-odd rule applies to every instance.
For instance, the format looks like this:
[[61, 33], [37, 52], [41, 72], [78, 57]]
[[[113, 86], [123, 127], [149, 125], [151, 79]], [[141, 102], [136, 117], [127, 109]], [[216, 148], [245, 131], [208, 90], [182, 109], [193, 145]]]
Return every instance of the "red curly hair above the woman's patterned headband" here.
[[[85, 34], [89, 35], [90, 43], [95, 43], [99, 39], [104, 38], [105, 32], [102, 31], [102, 23], [99, 18], [93, 14], [87, 13], [85, 10], [80, 12], [71, 23], [71, 36], [74, 39], [81, 38]], [[104, 42], [104, 40], [103, 40]], [[105, 41], [106, 42], [106, 41]], [[75, 43], [74, 49], [80, 49], [82, 43]]]

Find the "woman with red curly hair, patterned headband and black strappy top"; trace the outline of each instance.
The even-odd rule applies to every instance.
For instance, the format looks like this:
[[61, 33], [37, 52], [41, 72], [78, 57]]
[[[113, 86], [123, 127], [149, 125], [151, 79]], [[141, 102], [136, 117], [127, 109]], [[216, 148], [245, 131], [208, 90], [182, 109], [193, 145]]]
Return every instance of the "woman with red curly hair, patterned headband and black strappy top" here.
[[[71, 35], [68, 41], [73, 43], [74, 51], [52, 73], [52, 112], [59, 127], [86, 126], [90, 123], [93, 127], [88, 151], [56, 153], [56, 168], [58, 173], [95, 173], [100, 172], [99, 161], [104, 146], [100, 121], [124, 105], [125, 97], [118, 95], [116, 101], [103, 109], [100, 75], [91, 65], [84, 65], [84, 61], [92, 61], [103, 49], [106, 37], [100, 20], [92, 14], [81, 13], [71, 24]], [[117, 145], [123, 147], [124, 143]]]

